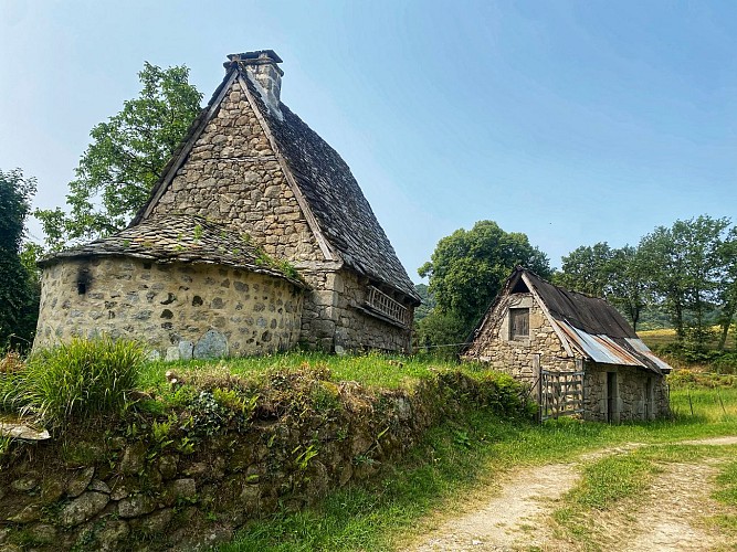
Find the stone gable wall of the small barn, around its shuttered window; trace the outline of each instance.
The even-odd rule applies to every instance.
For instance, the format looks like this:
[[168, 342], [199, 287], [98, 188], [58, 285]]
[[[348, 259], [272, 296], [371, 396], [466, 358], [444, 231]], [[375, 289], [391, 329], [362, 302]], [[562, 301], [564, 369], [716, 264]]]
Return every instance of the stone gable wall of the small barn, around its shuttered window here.
[[[529, 308], [529, 338], [509, 339], [509, 308]], [[534, 370], [537, 354], [543, 370], [576, 369], [575, 360], [567, 355], [543, 308], [531, 294], [512, 294], [504, 297], [481, 331], [465, 354], [468, 360], [486, 362], [495, 370], [530, 383], [537, 379]]]

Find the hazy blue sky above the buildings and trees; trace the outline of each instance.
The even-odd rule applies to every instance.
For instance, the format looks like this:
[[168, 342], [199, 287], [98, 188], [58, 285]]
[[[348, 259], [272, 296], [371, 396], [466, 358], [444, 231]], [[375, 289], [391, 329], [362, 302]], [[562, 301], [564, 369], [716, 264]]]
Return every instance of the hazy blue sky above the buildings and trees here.
[[63, 205], [144, 61], [186, 64], [207, 99], [225, 54], [261, 49], [417, 282], [484, 219], [554, 266], [676, 219], [737, 222], [734, 1], [0, 0], [0, 169]]

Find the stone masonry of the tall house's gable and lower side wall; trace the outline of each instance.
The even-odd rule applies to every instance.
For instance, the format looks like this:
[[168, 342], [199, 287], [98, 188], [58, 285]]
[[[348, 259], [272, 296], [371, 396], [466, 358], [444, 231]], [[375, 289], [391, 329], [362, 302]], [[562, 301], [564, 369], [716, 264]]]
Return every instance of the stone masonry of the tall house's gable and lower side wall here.
[[301, 337], [309, 347], [409, 351], [408, 330], [351, 309], [366, 294], [356, 275], [320, 266], [319, 245], [238, 82], [154, 212], [234, 225], [269, 255], [299, 268], [313, 288], [305, 297]]

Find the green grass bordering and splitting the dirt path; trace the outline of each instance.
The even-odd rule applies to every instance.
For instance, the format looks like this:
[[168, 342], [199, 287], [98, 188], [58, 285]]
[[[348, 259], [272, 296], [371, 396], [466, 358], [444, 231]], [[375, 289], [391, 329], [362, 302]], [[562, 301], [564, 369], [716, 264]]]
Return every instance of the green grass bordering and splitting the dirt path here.
[[[673, 445], [737, 434], [737, 393], [722, 391], [727, 415], [714, 390], [674, 389], [672, 399], [681, 412], [677, 418], [619, 426], [568, 418], [525, 424], [476, 412], [462, 426], [445, 424], [429, 432], [400, 464], [385, 467], [379, 480], [335, 491], [299, 512], [283, 511], [252, 522], [221, 550], [398, 550], [431, 529], [436, 512], [453, 511], [520, 466], [570, 461], [583, 452], [623, 443], [651, 444], [585, 468], [581, 486], [567, 497], [556, 519], [570, 539], [586, 545], [592, 534], [587, 516], [641, 495], [656, 477], [660, 463], [734, 454], [735, 447]], [[693, 416], [683, 410], [687, 392], [692, 393]], [[719, 522], [737, 523], [737, 519]], [[596, 541], [590, 543], [596, 548]]]

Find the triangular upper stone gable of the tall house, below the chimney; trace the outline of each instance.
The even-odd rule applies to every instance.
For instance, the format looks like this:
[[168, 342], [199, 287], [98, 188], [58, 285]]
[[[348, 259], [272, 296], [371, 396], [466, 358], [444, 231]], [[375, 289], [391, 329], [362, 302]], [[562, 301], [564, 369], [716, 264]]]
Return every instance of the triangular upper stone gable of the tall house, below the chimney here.
[[225, 94], [154, 212], [183, 212], [234, 225], [280, 259], [323, 259], [238, 82]]

